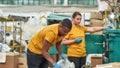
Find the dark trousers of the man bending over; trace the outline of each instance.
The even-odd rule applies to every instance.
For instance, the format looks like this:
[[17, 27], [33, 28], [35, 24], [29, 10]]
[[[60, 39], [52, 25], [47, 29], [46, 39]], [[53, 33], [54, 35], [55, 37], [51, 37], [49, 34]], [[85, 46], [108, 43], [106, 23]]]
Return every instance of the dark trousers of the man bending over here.
[[48, 61], [41, 54], [34, 54], [27, 50], [28, 68], [48, 68]]

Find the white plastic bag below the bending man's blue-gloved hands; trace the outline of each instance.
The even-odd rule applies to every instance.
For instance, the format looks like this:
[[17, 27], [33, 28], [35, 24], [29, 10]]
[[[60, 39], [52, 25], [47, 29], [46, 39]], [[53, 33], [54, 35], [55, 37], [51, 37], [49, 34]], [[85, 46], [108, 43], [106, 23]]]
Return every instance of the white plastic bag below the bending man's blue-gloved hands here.
[[68, 59], [66, 59], [66, 61], [61, 59], [57, 62], [57, 64], [61, 65], [61, 68], [75, 68], [74, 63], [70, 62]]

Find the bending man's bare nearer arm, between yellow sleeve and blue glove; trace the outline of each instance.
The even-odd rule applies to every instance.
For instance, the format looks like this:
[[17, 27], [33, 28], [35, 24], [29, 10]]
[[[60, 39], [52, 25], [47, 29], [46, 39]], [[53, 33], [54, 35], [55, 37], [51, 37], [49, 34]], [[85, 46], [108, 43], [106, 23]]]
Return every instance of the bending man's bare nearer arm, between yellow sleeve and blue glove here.
[[50, 54], [48, 54], [48, 50], [50, 48], [50, 43], [47, 40], [44, 40], [43, 47], [42, 47], [42, 55], [47, 59], [51, 64], [54, 64], [55, 60], [52, 59]]

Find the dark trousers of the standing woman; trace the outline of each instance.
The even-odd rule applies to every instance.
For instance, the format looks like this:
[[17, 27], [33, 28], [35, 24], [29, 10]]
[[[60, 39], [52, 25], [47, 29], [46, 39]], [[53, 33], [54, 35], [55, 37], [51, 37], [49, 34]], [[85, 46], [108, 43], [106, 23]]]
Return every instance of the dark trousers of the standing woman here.
[[68, 57], [70, 62], [74, 62], [75, 68], [81, 68], [85, 65], [86, 57]]

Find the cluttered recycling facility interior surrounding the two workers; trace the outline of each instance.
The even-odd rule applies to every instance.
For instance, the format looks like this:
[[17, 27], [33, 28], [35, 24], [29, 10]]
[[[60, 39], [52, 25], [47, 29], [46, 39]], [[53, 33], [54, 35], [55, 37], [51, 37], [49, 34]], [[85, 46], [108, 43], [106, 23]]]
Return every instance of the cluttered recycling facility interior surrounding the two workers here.
[[[80, 25], [112, 26], [111, 30], [85, 34], [83, 68], [120, 68], [120, 0], [0, 0], [0, 68], [28, 68], [30, 38], [45, 26], [71, 20], [75, 11], [82, 14]], [[62, 49], [67, 54], [67, 46]], [[48, 52], [59, 61], [55, 46]]]

